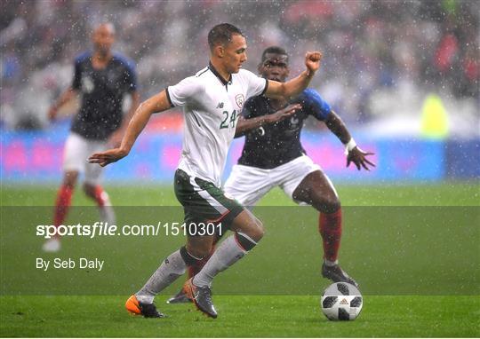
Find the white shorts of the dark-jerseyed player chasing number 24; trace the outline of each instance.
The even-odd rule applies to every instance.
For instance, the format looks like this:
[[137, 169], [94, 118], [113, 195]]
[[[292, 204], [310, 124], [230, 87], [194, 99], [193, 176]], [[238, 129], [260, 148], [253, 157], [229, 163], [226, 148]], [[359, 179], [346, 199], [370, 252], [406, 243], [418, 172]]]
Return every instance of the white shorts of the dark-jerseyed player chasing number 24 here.
[[302, 155], [275, 169], [235, 165], [225, 183], [224, 192], [245, 207], [250, 207], [260, 201], [272, 188], [279, 186], [295, 201], [292, 197], [295, 189], [308, 174], [316, 170], [322, 169], [307, 155]]

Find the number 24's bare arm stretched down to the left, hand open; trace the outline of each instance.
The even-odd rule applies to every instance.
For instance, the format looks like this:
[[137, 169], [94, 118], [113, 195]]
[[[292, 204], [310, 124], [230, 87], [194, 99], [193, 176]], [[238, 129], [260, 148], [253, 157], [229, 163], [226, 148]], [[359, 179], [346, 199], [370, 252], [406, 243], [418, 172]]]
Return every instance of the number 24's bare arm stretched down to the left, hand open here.
[[147, 125], [150, 115], [166, 111], [170, 107], [170, 102], [167, 99], [165, 91], [161, 91], [150, 99], [142, 102], [128, 124], [120, 147], [92, 154], [88, 159], [88, 162], [98, 163], [101, 167], [104, 167], [111, 162], [117, 162], [127, 156], [130, 153], [135, 140]]

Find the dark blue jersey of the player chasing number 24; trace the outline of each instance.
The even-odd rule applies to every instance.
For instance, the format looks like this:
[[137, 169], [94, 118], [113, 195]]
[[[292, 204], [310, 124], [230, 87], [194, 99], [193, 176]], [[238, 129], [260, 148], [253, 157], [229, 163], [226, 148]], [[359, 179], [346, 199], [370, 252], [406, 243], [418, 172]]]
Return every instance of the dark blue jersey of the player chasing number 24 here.
[[[287, 106], [290, 104], [300, 104], [300, 111], [281, 122], [267, 124], [245, 134], [245, 145], [242, 156], [238, 160], [239, 164], [260, 169], [274, 169], [306, 154], [300, 144], [303, 121], [308, 115], [324, 121], [332, 112], [332, 108], [317, 91], [312, 89], [303, 91]], [[245, 119], [274, 113], [276, 109], [271, 107], [270, 99], [265, 96], [248, 99], [242, 112]]]

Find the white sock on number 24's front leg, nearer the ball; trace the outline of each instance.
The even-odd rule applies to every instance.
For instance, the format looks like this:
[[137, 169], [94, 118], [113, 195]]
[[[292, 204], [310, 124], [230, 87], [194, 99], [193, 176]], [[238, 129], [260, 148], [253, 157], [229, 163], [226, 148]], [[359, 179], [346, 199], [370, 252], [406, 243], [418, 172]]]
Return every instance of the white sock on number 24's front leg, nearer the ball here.
[[204, 265], [202, 271], [198, 272], [192, 280], [196, 286], [212, 285], [213, 278], [220, 272], [226, 270], [232, 264], [244, 257], [248, 252], [240, 247], [235, 239], [235, 234], [229, 236], [215, 250], [211, 258]]

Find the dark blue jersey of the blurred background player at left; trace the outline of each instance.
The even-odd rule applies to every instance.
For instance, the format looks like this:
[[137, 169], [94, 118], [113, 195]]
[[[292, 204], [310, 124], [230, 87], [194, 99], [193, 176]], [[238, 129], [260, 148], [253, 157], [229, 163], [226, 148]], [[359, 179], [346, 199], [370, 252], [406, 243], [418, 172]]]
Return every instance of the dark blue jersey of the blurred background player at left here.
[[106, 67], [92, 67], [92, 52], [75, 60], [72, 88], [82, 95], [82, 103], [71, 130], [84, 138], [105, 140], [122, 123], [124, 94], [137, 90], [132, 61], [114, 54]]

